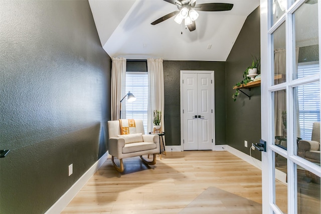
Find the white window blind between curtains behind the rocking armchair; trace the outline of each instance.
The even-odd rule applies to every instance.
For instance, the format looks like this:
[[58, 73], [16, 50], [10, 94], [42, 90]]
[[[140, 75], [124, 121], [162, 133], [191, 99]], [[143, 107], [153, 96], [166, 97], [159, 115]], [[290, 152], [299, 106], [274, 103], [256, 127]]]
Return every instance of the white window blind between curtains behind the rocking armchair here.
[[126, 72], [126, 92], [135, 97], [134, 102], [126, 102], [126, 118], [140, 119], [147, 134], [148, 74], [147, 72]]

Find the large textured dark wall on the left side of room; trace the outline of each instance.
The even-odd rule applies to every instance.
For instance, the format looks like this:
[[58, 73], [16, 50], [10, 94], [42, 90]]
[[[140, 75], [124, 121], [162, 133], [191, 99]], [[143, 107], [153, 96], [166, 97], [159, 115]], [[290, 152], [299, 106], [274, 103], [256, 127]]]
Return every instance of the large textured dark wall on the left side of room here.
[[0, 213], [44, 213], [107, 150], [111, 59], [88, 1], [0, 1], [0, 16]]

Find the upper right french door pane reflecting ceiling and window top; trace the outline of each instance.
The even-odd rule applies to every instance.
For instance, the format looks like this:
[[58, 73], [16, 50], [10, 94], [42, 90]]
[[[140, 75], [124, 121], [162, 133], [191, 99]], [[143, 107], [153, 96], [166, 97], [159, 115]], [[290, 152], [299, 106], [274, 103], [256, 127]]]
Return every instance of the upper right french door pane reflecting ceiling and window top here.
[[[306, 1], [293, 15], [295, 20], [295, 67], [298, 66], [298, 63], [305, 65], [304, 75], [300, 76], [297, 72], [294, 72], [293, 79], [313, 75], [315, 65], [318, 68], [317, 7], [318, 4], [311, 4], [309, 1]], [[312, 67], [309, 68], [308, 65], [312, 65]]]

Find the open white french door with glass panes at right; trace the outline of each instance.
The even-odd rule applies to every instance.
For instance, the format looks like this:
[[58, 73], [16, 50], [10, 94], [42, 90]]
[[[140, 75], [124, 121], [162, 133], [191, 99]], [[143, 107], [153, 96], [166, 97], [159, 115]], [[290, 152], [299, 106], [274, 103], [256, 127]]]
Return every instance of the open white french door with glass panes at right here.
[[321, 213], [320, 148], [299, 149], [313, 133], [320, 141], [320, 4], [261, 0], [263, 213]]

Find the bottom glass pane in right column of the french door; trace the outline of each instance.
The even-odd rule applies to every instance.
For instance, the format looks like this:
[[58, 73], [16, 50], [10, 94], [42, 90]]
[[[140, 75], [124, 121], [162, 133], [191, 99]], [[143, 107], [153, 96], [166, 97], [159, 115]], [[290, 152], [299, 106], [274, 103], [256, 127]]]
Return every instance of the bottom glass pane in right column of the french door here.
[[297, 166], [297, 213], [321, 213], [320, 177], [300, 166]]

